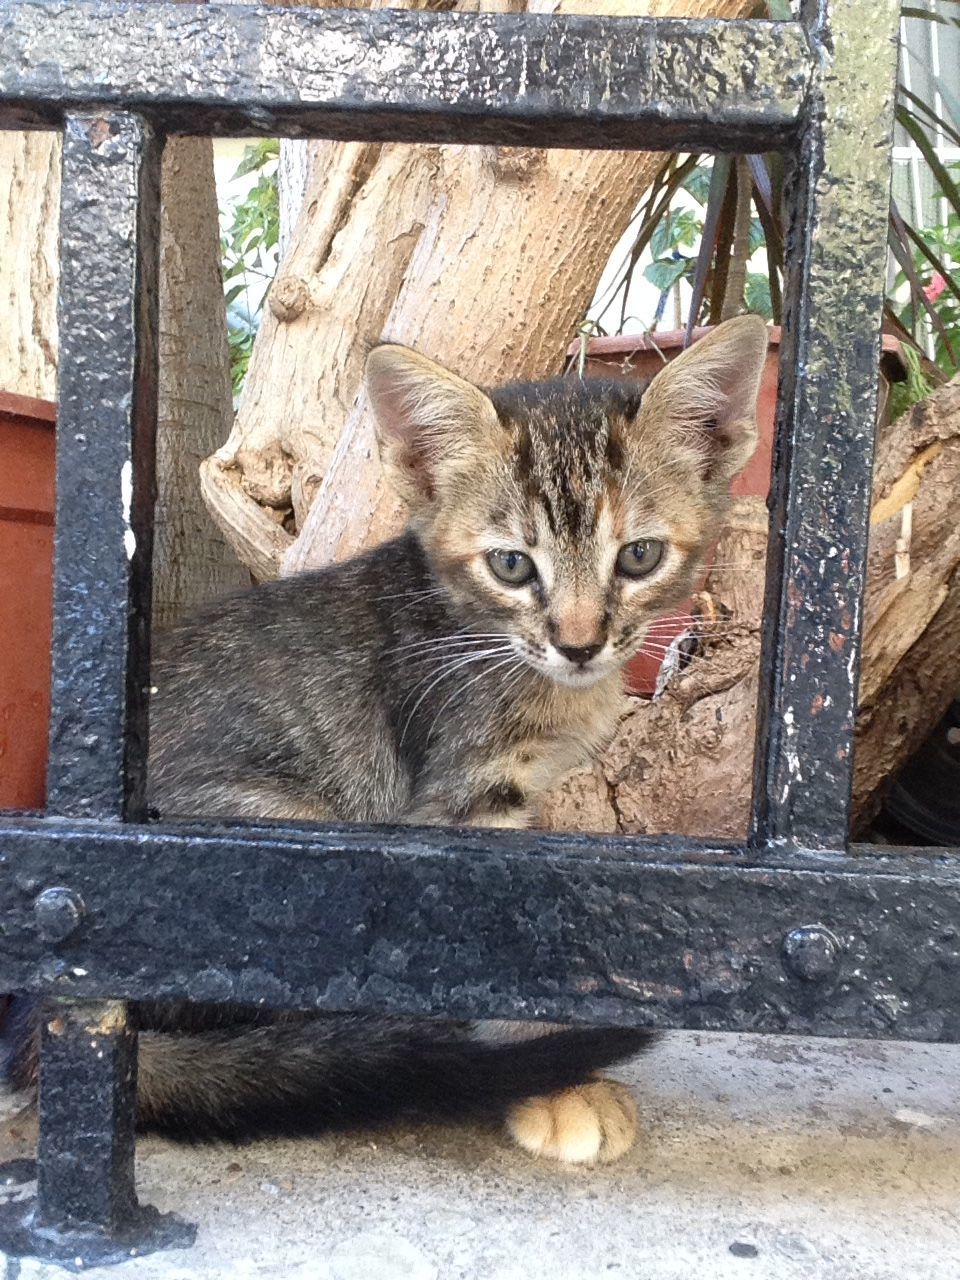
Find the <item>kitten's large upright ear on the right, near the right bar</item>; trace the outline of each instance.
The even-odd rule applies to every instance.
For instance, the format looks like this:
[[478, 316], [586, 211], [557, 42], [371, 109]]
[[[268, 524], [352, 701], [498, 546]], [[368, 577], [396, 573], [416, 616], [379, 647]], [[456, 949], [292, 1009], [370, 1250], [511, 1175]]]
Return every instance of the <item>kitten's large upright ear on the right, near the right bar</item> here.
[[760, 316], [726, 320], [664, 365], [644, 394], [640, 416], [672, 428], [699, 454], [709, 480], [732, 480], [756, 448], [768, 338]]

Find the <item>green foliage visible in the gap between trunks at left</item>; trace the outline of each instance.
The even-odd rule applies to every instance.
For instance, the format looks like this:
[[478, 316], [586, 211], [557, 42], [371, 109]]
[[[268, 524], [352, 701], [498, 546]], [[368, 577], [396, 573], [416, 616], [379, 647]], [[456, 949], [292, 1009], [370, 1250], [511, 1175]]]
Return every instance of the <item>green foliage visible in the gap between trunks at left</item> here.
[[247, 376], [253, 339], [260, 328], [266, 287], [276, 271], [280, 201], [276, 164], [280, 143], [264, 138], [243, 152], [233, 179], [257, 174], [246, 195], [228, 209], [220, 236], [220, 261], [227, 301], [230, 381], [239, 396]]

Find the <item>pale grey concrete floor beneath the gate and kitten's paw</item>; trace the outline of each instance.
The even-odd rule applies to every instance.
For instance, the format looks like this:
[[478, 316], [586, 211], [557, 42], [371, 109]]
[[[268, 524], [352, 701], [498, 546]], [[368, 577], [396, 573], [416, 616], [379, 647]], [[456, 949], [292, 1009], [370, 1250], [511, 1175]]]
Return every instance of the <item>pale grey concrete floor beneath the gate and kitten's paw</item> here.
[[[687, 1033], [626, 1078], [643, 1140], [595, 1171], [495, 1130], [145, 1140], [141, 1197], [196, 1222], [197, 1243], [86, 1275], [960, 1280], [960, 1046]], [[8, 1120], [0, 1158], [29, 1155], [29, 1129]], [[0, 1275], [64, 1272], [6, 1260]]]

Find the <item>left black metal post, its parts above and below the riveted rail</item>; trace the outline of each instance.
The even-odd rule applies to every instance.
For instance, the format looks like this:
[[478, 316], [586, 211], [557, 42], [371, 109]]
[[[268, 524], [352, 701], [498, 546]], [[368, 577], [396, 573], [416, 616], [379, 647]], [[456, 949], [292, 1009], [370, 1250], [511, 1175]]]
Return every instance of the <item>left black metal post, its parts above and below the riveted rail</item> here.
[[[60, 204], [54, 678], [47, 812], [142, 814], [161, 146], [68, 116]], [[40, 1230], [131, 1231], [137, 1038], [122, 1004], [42, 1019]]]

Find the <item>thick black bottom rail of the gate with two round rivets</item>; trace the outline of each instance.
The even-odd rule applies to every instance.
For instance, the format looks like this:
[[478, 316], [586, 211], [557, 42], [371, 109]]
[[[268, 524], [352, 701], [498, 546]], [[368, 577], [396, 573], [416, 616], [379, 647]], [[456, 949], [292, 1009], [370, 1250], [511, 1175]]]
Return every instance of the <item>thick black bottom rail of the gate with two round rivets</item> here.
[[960, 1041], [960, 850], [8, 817], [0, 895], [3, 989]]

